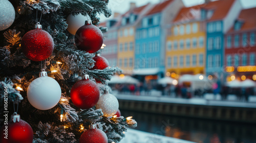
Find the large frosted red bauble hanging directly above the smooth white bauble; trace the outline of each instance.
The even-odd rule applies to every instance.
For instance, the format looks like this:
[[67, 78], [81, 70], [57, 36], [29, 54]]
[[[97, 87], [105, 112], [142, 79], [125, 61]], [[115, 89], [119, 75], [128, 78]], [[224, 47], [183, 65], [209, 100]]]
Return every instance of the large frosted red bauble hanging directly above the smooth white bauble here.
[[22, 50], [32, 61], [44, 61], [52, 54], [54, 42], [52, 36], [36, 24], [36, 29], [27, 32], [22, 38]]

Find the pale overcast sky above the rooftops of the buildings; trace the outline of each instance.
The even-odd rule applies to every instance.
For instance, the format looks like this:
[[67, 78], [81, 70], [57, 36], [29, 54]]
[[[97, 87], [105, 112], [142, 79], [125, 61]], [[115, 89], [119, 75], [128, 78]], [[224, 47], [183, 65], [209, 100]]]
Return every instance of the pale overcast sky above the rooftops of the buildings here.
[[[156, 4], [161, 0], [109, 0], [109, 7], [113, 12], [119, 12], [121, 14], [129, 10], [130, 3], [135, 2], [137, 7], [143, 6], [147, 3]], [[204, 3], [204, 0], [180, 0], [183, 1], [186, 7], [195, 6]], [[256, 7], [256, 0], [240, 0], [243, 8]], [[111, 18], [111, 17], [110, 17]], [[104, 15], [100, 16], [100, 21], [105, 21], [107, 18]]]

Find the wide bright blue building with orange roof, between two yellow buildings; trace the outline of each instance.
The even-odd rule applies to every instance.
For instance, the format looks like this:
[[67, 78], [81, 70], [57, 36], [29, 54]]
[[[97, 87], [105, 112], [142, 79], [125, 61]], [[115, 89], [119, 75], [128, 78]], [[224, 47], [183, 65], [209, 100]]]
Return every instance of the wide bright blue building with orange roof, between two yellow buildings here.
[[165, 74], [166, 25], [170, 24], [183, 6], [180, 0], [153, 5], [136, 26], [133, 74], [153, 87], [155, 80]]

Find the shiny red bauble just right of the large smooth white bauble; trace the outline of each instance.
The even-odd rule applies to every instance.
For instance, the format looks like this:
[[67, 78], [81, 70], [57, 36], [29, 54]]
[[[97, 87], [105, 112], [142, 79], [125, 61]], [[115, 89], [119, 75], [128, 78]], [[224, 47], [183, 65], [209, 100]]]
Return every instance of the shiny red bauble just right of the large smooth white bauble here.
[[72, 87], [70, 97], [74, 105], [81, 109], [89, 109], [98, 102], [100, 91], [95, 82], [86, 75]]

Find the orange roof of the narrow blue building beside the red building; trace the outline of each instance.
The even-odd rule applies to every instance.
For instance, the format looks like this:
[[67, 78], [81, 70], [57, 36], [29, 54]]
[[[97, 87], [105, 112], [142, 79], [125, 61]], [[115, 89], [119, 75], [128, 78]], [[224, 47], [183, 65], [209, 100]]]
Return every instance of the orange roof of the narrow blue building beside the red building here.
[[211, 16], [209, 21], [220, 20], [226, 17], [232, 4], [236, 0], [219, 0], [208, 3], [205, 7], [206, 10], [214, 10], [214, 14]]

